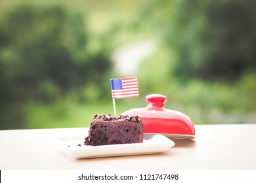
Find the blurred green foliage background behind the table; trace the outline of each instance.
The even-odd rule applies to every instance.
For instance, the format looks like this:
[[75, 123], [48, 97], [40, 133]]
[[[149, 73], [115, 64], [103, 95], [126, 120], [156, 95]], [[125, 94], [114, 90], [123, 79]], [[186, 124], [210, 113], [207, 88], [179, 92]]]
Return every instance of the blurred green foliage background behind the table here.
[[194, 124], [256, 122], [253, 0], [0, 1], [0, 129], [89, 126], [137, 76]]

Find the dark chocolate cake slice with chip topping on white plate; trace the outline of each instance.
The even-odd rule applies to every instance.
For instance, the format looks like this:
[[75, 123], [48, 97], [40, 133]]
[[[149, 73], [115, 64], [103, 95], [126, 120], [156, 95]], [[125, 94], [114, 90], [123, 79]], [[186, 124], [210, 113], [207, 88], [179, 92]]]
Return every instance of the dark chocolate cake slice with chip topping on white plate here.
[[130, 144], [143, 142], [143, 124], [138, 116], [95, 115], [85, 145]]

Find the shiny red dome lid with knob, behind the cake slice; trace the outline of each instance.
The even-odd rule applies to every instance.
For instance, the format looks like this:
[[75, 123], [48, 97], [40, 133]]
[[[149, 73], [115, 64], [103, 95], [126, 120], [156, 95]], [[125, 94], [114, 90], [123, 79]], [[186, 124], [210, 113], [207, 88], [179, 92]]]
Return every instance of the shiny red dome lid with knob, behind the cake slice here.
[[166, 137], [194, 139], [192, 120], [177, 110], [165, 109], [167, 97], [160, 94], [146, 96], [146, 108], [133, 108], [122, 114], [139, 116], [144, 124], [144, 133], [158, 133]]

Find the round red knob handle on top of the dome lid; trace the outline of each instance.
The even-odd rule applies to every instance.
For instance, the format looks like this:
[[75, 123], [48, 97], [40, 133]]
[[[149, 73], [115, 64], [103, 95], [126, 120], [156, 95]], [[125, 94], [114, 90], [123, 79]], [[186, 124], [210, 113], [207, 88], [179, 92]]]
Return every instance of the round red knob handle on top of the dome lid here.
[[148, 103], [146, 108], [154, 110], [164, 110], [164, 104], [167, 101], [167, 97], [160, 94], [147, 95], [145, 99]]

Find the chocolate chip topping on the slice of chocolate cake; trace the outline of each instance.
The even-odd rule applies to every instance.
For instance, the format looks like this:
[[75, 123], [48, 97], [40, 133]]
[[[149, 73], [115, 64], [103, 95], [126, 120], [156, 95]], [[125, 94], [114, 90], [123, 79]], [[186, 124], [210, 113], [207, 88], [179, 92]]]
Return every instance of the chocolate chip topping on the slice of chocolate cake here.
[[123, 121], [131, 121], [131, 122], [136, 122], [140, 123], [141, 120], [139, 116], [128, 116], [128, 115], [119, 115], [119, 116], [111, 116], [110, 114], [108, 115], [101, 115], [101, 114], [96, 114], [93, 117], [93, 120], [96, 122], [123, 122]]

